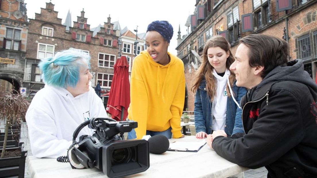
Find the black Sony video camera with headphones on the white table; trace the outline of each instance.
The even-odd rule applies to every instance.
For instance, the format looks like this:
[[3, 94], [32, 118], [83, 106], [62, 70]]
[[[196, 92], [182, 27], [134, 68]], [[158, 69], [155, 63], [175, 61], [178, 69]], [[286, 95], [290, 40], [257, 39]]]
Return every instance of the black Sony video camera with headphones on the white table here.
[[[79, 131], [88, 125], [93, 136]], [[98, 168], [108, 177], [132, 175], [146, 171], [150, 166], [149, 144], [146, 140], [123, 140], [123, 133], [137, 128], [135, 121], [117, 122], [111, 118], [94, 118], [82, 123], [73, 134], [73, 144], [68, 149], [72, 168]], [[120, 136], [118, 135], [120, 133]]]

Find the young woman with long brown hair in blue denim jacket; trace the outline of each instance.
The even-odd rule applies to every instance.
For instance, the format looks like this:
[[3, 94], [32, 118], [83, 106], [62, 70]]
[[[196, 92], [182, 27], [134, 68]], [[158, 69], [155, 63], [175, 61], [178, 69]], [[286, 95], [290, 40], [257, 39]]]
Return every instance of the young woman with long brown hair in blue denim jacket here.
[[236, 86], [235, 74], [229, 70], [234, 62], [230, 44], [216, 35], [206, 42], [202, 58], [192, 86], [196, 138], [207, 137], [213, 130], [224, 130], [228, 136], [244, 132], [239, 103], [246, 89]]

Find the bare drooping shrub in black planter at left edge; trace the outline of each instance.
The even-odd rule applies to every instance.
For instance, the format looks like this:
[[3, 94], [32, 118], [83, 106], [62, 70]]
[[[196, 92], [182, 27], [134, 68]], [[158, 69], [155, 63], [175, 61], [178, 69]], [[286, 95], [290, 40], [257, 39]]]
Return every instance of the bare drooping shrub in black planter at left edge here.
[[19, 143], [19, 136], [30, 102], [16, 93], [0, 91], [0, 120], [5, 123], [4, 133], [0, 133], [0, 175], [4, 177], [24, 177], [27, 151]]

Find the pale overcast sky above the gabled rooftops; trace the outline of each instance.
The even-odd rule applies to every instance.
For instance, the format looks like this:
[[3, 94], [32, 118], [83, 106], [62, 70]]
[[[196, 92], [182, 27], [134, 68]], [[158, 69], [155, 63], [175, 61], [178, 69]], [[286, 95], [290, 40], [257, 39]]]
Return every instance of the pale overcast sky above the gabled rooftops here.
[[[34, 19], [35, 13], [40, 13], [49, 0], [24, 0], [27, 3], [27, 15]], [[88, 3], [87, 3], [88, 2]], [[110, 14], [111, 22], [119, 21], [121, 29], [128, 27], [132, 32], [138, 26], [138, 33], [146, 32], [147, 25], [154, 20], [167, 20], [174, 28], [170, 47], [172, 54], [177, 54], [178, 25], [181, 35], [186, 35], [187, 17], [193, 14], [196, 0], [52, 0], [54, 10], [58, 11], [58, 18], [64, 23], [68, 10], [72, 14], [72, 21], [77, 21], [84, 8], [85, 17], [90, 28], [107, 22]], [[73, 25], [73, 24], [72, 24]]]

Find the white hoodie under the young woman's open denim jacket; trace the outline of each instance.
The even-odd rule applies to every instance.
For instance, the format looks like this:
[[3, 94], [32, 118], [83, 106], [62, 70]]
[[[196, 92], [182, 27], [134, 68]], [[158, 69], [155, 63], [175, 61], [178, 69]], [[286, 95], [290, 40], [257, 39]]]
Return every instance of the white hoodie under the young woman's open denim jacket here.
[[223, 77], [219, 76], [216, 70], [213, 70], [214, 77], [217, 80], [216, 87], [217, 92], [214, 96], [214, 100], [212, 101], [212, 130], [224, 130], [224, 126], [226, 123], [226, 111], [227, 111], [227, 99], [228, 93], [226, 90], [228, 75], [230, 75], [230, 71], [226, 69]]

